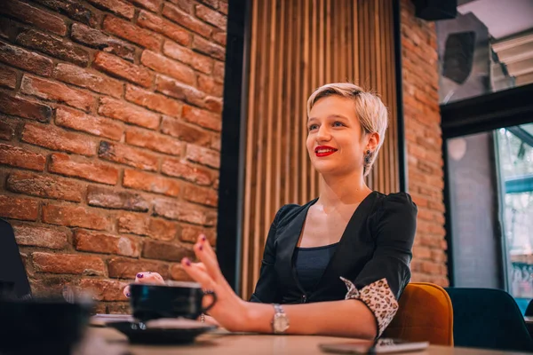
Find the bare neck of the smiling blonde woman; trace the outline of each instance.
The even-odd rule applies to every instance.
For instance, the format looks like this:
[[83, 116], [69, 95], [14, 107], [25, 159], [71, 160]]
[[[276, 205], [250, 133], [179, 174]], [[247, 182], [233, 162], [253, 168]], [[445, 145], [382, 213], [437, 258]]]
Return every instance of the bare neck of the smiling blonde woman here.
[[361, 202], [371, 192], [361, 171], [344, 176], [322, 176], [317, 203], [328, 207], [353, 205]]

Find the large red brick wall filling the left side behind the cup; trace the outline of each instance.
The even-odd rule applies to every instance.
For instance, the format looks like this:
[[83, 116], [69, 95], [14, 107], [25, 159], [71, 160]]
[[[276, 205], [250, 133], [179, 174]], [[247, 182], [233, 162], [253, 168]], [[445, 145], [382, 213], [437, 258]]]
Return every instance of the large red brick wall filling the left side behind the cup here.
[[6, 0], [0, 217], [36, 295], [127, 306], [135, 272], [181, 280], [217, 219], [226, 0]]

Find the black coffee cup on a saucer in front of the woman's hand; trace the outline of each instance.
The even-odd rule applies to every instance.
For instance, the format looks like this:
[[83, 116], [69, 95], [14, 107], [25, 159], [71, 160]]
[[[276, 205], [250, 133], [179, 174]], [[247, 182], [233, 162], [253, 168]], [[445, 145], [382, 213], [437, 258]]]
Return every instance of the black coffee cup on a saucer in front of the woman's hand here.
[[[159, 318], [197, 319], [217, 302], [212, 291], [203, 291], [195, 282], [173, 282], [171, 285], [134, 283], [130, 285], [133, 317], [141, 321]], [[211, 296], [211, 304], [202, 306], [203, 296]]]

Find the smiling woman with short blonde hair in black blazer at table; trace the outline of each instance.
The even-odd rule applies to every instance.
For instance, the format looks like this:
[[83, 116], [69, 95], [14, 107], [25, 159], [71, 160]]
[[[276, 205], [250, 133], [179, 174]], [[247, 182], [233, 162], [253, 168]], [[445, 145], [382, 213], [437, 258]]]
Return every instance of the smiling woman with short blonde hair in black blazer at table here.
[[[216, 292], [210, 313], [228, 330], [375, 338], [410, 280], [417, 207], [407, 193], [377, 193], [364, 182], [387, 127], [377, 96], [327, 84], [308, 99], [307, 115], [306, 147], [321, 193], [277, 212], [251, 301], [235, 295], [204, 236], [194, 246], [201, 263], [181, 264]], [[163, 279], [140, 272], [137, 281]]]

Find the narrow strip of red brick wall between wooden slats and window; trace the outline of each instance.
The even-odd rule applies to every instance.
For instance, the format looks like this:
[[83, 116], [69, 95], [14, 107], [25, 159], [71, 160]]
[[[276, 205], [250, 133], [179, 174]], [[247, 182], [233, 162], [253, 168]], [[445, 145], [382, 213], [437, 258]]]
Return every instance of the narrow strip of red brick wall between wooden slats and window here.
[[415, 8], [410, 0], [402, 0], [401, 4], [403, 107], [409, 192], [418, 205], [412, 280], [448, 286], [435, 26], [415, 17]]

